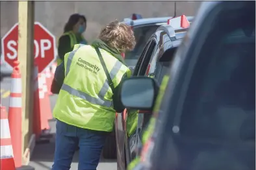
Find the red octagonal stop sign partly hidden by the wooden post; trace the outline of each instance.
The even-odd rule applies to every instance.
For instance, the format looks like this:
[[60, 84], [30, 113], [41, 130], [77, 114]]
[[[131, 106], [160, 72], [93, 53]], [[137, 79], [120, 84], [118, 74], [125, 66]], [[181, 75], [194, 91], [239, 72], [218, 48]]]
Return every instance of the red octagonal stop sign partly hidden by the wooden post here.
[[[2, 38], [3, 62], [6, 66], [14, 67], [14, 61], [18, 60], [18, 23], [10, 29]], [[34, 57], [38, 63], [38, 72], [50, 66], [56, 59], [55, 36], [41, 23], [34, 23]]]

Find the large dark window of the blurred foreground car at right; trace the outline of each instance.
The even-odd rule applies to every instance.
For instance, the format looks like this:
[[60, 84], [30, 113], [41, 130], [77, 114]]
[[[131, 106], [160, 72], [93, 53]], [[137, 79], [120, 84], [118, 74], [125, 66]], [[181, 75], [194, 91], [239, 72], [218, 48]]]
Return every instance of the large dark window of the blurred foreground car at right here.
[[[248, 21], [237, 23], [242, 18]], [[255, 142], [255, 34], [247, 32], [255, 30], [255, 15], [219, 25], [192, 72], [179, 132], [196, 140]]]

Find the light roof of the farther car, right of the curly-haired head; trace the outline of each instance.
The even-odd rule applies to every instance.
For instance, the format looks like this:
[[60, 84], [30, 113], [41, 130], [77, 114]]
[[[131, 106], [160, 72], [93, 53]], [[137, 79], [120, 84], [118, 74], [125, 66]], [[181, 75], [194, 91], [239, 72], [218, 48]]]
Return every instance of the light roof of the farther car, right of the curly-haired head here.
[[[168, 16], [168, 17], [159, 17], [159, 18], [142, 18], [142, 19], [136, 19], [136, 20], [132, 20], [130, 18], [125, 18], [124, 21], [122, 21], [122, 23], [126, 23], [128, 25], [131, 26], [138, 26], [138, 25], [148, 25], [148, 24], [154, 24], [154, 23], [167, 23], [167, 20], [173, 18], [172, 16]], [[193, 16], [187, 16], [186, 18], [188, 18], [188, 21], [192, 21], [192, 19], [194, 19]]]

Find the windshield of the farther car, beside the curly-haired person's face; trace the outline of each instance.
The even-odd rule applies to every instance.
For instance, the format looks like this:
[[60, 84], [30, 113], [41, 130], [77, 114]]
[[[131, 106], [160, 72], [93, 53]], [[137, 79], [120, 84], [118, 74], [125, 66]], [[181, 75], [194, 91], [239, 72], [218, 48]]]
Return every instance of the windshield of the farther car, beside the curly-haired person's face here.
[[159, 28], [159, 26], [160, 25], [144, 25], [133, 28], [136, 45], [133, 51], [125, 53], [125, 62], [128, 64], [128, 66], [136, 65], [136, 62], [138, 61], [147, 40]]

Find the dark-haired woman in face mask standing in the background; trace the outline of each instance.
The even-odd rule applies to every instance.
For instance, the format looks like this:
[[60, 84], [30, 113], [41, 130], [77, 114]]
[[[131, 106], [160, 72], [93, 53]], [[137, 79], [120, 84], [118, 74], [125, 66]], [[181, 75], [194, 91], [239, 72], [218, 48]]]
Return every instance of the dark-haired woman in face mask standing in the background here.
[[64, 27], [64, 33], [58, 40], [58, 66], [64, 59], [64, 55], [73, 50], [75, 44], [87, 44], [83, 37], [86, 30], [86, 18], [80, 14], [73, 14]]

